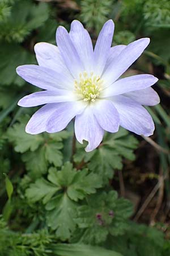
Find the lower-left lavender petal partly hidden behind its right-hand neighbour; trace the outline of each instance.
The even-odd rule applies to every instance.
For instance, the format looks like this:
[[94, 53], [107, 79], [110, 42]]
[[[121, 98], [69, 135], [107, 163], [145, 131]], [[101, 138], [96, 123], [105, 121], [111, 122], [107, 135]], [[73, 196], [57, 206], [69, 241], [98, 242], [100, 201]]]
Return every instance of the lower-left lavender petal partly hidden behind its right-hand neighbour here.
[[46, 131], [46, 123], [57, 108], [57, 103], [46, 104], [29, 119], [25, 131], [29, 134], [39, 134]]

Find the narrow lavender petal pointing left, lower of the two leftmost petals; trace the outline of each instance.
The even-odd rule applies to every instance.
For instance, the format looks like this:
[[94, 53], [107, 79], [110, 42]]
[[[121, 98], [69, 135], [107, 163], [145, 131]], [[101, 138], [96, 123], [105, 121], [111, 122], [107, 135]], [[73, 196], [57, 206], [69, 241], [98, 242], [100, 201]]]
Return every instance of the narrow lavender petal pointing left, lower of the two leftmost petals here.
[[39, 106], [48, 103], [57, 103], [65, 101], [74, 101], [75, 97], [69, 90], [44, 90], [42, 92], [36, 92], [29, 94], [19, 100], [18, 105], [23, 107]]

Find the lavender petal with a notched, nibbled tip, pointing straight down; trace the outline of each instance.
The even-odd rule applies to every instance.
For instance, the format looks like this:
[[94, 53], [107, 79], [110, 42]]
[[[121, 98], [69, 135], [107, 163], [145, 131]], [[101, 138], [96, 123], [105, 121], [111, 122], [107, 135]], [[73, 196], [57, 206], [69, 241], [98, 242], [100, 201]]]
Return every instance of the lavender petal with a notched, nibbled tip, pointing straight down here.
[[99, 146], [103, 139], [104, 130], [97, 122], [90, 106], [88, 106], [82, 114], [75, 117], [75, 136], [76, 139], [83, 144], [83, 140], [88, 141], [85, 148], [87, 152], [94, 150]]

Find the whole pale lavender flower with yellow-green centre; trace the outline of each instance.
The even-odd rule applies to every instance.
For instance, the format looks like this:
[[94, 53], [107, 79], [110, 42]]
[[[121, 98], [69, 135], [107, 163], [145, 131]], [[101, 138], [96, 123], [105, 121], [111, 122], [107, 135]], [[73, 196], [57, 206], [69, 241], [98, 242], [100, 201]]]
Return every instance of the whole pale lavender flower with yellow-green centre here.
[[114, 23], [108, 20], [93, 49], [87, 30], [74, 20], [69, 33], [62, 26], [57, 28], [58, 47], [35, 45], [39, 65], [16, 69], [25, 81], [44, 89], [18, 102], [23, 107], [45, 104], [27, 123], [27, 133], [56, 133], [75, 117], [75, 136], [80, 143], [88, 141], [86, 151], [99, 146], [104, 131], [115, 133], [119, 126], [139, 135], [153, 134], [154, 122], [142, 105], [159, 103], [158, 94], [151, 88], [158, 79], [152, 75], [120, 79], [150, 39], [111, 47], [113, 32]]

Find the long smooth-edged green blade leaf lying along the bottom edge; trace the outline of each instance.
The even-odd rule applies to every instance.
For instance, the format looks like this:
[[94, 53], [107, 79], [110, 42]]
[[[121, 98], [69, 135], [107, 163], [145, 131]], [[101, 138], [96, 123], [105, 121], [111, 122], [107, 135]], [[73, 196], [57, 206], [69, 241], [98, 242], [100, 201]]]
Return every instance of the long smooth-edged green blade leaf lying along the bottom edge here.
[[79, 243], [71, 245], [58, 243], [53, 246], [53, 250], [58, 256], [123, 256], [120, 253], [116, 253], [116, 251], [106, 250], [103, 247]]

